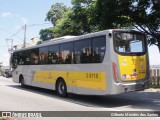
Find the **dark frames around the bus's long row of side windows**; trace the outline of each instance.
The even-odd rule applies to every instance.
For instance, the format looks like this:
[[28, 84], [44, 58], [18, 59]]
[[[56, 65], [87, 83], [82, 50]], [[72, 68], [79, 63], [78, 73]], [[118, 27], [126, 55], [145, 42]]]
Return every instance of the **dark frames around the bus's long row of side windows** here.
[[[101, 56], [101, 54], [100, 54], [100, 61], [99, 62], [96, 62], [95, 60], [92, 60], [93, 59], [93, 50], [95, 49], [95, 47], [99, 47], [99, 46], [95, 46], [93, 43], [95, 43], [95, 42], [97, 42], [97, 41], [99, 41], [100, 39], [102, 39], [103, 40], [103, 42], [104, 42], [104, 50], [103, 50], [103, 55]], [[76, 50], [76, 48], [75, 48], [75, 46], [76, 46], [76, 42], [86, 42], [86, 40], [89, 40], [90, 41], [90, 48], [91, 48], [91, 60], [89, 61], [89, 62], [79, 62], [79, 63], [76, 63], [75, 62], [75, 50]], [[104, 61], [104, 58], [105, 58], [105, 54], [106, 54], [106, 49], [107, 49], [107, 46], [106, 46], [106, 43], [107, 43], [107, 41], [106, 41], [106, 35], [99, 35], [99, 36], [95, 36], [95, 37], [87, 37], [87, 38], [81, 38], [81, 39], [76, 39], [76, 40], [74, 40], [74, 41], [68, 41], [68, 42], [63, 42], [63, 43], [56, 43], [56, 44], [51, 44], [51, 45], [46, 45], [46, 46], [36, 46], [36, 47], [34, 47], [34, 48], [27, 48], [27, 49], [22, 49], [22, 50], [18, 50], [18, 51], [14, 51], [13, 52], [13, 54], [19, 54], [19, 53], [22, 53], [22, 52], [27, 52], [27, 51], [29, 51], [29, 53], [30, 53], [30, 56], [29, 56], [29, 58], [30, 58], [30, 61], [29, 61], [29, 63], [27, 63], [26, 64], [26, 61], [24, 61], [24, 64], [19, 64], [19, 63], [17, 63], [17, 65], [50, 65], [50, 64], [99, 64], [99, 63], [103, 63], [103, 61]], [[72, 60], [71, 60], [71, 63], [60, 63], [60, 52], [61, 52], [61, 46], [63, 46], [63, 45], [66, 45], [66, 44], [72, 44]], [[51, 63], [50, 62], [50, 59], [49, 59], [49, 52], [53, 52], [50, 48], [52, 48], [52, 47], [57, 47], [58, 48], [58, 61], [56, 62], [56, 63]], [[40, 49], [41, 48], [46, 48], [47, 50], [48, 50], [48, 61], [46, 62], [46, 63], [41, 63], [40, 62]], [[51, 51], [50, 51], [51, 50]], [[36, 51], [36, 52], [35, 52]], [[100, 51], [100, 50], [99, 50]], [[38, 60], [38, 62], [37, 63], [34, 63], [34, 61], [35, 60], [33, 60], [33, 53], [36, 53], [35, 54], [35, 56], [37, 57], [37, 60]], [[19, 60], [19, 55], [17, 55], [17, 60]], [[17, 66], [16, 66], [17, 67]]]

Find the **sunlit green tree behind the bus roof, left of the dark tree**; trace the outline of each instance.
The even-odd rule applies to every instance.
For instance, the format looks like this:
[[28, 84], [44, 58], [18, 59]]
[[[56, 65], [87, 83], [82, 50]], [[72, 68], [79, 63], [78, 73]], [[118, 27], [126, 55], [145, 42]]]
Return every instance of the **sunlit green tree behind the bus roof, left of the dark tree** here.
[[73, 7], [63, 12], [62, 18], [56, 21], [54, 36], [82, 35], [95, 31], [91, 19], [94, 2], [92, 0], [72, 0]]

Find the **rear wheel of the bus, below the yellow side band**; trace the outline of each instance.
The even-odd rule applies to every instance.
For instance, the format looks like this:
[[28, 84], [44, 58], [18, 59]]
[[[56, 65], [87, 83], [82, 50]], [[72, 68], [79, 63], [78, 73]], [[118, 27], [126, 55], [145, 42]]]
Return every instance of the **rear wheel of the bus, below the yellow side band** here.
[[67, 86], [63, 79], [57, 81], [56, 92], [60, 97], [67, 97]]

